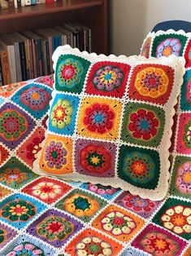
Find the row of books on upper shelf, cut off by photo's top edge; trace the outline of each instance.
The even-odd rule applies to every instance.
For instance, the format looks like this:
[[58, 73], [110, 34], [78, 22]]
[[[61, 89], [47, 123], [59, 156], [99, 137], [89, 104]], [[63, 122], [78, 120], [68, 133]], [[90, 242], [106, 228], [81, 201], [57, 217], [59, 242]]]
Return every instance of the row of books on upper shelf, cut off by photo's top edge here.
[[27, 6], [36, 5], [39, 3], [52, 3], [52, 2], [56, 2], [56, 0], [8, 0], [7, 8], [27, 7]]

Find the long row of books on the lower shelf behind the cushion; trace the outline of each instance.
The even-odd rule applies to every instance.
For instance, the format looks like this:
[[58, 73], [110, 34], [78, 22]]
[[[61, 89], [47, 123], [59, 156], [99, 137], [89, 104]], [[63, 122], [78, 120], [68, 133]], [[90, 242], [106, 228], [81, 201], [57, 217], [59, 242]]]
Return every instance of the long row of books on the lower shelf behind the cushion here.
[[0, 86], [54, 73], [52, 54], [66, 44], [91, 52], [91, 29], [76, 23], [0, 35]]

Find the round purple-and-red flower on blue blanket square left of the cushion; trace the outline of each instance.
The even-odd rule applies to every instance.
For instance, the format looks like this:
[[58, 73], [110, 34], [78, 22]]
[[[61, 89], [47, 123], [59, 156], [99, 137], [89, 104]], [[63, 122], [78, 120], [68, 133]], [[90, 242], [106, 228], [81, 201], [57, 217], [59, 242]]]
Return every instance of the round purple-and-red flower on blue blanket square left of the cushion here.
[[42, 110], [50, 102], [50, 93], [44, 88], [31, 86], [20, 95], [20, 101], [31, 110]]

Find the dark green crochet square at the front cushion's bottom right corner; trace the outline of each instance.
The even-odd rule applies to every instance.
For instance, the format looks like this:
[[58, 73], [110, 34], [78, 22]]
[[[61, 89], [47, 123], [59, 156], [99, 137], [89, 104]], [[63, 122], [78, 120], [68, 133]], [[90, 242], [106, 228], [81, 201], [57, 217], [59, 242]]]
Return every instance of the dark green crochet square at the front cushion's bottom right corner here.
[[158, 152], [149, 149], [119, 148], [119, 178], [141, 188], [156, 188], [160, 170]]

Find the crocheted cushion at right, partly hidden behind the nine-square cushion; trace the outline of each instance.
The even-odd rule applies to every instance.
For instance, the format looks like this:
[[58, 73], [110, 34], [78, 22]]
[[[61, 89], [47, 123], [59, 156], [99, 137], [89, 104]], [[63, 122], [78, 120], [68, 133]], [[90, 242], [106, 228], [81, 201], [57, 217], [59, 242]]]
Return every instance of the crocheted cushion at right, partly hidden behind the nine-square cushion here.
[[173, 129], [171, 156], [170, 194], [190, 198], [191, 196], [191, 33], [172, 29], [149, 33], [141, 47], [141, 55], [184, 56], [185, 75], [181, 86]]

